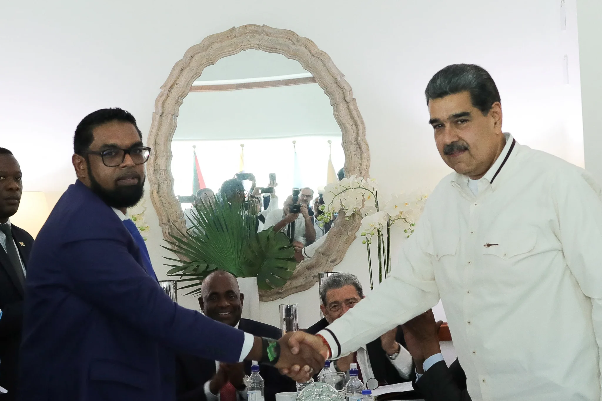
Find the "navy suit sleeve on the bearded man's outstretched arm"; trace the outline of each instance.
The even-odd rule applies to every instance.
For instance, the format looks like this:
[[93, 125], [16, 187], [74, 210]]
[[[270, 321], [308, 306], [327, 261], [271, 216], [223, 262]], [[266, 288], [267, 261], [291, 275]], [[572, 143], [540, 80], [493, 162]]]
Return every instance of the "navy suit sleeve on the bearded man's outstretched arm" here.
[[238, 362], [244, 333], [172, 301], [117, 240], [64, 245], [70, 290], [177, 352]]

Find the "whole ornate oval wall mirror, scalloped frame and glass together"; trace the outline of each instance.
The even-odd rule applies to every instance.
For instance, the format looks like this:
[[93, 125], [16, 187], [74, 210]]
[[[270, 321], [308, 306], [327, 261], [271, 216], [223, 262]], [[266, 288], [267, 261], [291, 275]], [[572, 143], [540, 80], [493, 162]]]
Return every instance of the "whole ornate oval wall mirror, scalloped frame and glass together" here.
[[[313, 219], [314, 201], [340, 168], [366, 177], [370, 165], [364, 121], [329, 56], [308, 38], [259, 25], [211, 35], [185, 52], [155, 101], [148, 142], [151, 199], [166, 239], [176, 227], [186, 229], [197, 189], [219, 193], [237, 179], [271, 226], [291, 212], [294, 188]], [[292, 233], [291, 224], [282, 225], [299, 248], [324, 235], [315, 224], [314, 237], [305, 219], [294, 219]], [[341, 216], [326, 227], [311, 258], [259, 299], [311, 288], [318, 273], [343, 259], [359, 223]]]

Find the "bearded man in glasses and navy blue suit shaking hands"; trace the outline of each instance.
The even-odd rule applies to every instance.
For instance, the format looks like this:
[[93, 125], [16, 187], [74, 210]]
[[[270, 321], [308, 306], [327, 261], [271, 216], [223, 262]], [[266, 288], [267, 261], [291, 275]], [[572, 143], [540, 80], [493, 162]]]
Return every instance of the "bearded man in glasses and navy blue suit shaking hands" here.
[[143, 195], [151, 149], [141, 138], [134, 117], [118, 108], [87, 115], [75, 130], [78, 180], [29, 259], [20, 400], [173, 401], [174, 351], [226, 363], [259, 360], [308, 379], [323, 363], [313, 350], [293, 355], [287, 336], [246, 334], [163, 292], [126, 218]]

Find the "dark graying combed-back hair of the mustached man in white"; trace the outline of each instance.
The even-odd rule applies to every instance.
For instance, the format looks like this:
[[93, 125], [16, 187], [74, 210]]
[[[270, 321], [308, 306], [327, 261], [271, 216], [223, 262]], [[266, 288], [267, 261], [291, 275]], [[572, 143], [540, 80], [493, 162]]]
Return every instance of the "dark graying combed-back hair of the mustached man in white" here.
[[500, 93], [491, 75], [483, 67], [475, 64], [452, 64], [439, 70], [429, 84], [424, 95], [426, 104], [432, 99], [440, 99], [451, 94], [469, 92], [473, 106], [487, 115], [495, 102], [501, 102]]

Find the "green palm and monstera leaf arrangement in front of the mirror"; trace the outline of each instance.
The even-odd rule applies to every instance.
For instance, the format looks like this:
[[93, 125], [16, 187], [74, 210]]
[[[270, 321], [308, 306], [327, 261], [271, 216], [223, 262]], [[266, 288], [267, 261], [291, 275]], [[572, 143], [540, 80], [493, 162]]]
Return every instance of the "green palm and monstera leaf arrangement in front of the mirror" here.
[[[294, 249], [284, 233], [272, 229], [256, 232], [256, 217], [240, 204], [215, 199], [195, 206], [190, 213], [192, 227], [177, 230], [169, 249], [182, 259], [166, 257], [170, 276], [185, 283], [181, 289], [200, 293], [202, 280], [211, 272], [228, 271], [235, 277], [257, 277], [261, 289], [284, 286], [296, 266]], [[187, 294], [187, 295], [188, 295]]]

